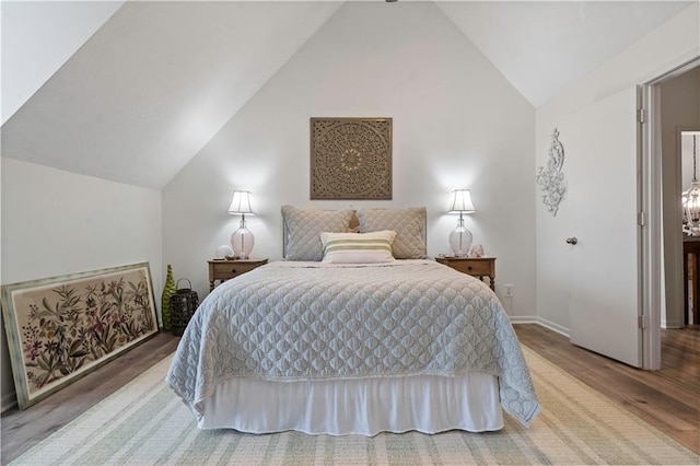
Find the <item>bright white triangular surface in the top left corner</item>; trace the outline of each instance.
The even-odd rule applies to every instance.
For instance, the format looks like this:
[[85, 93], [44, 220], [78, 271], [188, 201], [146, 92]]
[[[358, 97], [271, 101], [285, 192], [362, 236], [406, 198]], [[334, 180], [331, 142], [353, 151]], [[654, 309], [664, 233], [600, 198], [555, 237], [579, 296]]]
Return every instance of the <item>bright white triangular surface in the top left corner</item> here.
[[2, 47], [3, 125], [122, 3], [0, 3], [1, 42], [5, 44]]

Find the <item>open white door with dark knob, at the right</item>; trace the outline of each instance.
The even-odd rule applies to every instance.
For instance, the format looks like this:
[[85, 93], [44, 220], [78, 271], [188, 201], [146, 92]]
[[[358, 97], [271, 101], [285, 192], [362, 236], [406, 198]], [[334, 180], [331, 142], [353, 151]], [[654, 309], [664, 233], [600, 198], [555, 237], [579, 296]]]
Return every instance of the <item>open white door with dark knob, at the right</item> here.
[[618, 92], [570, 115], [560, 139], [569, 178], [569, 237], [578, 240], [568, 246], [571, 342], [639, 368], [637, 108], [637, 88]]

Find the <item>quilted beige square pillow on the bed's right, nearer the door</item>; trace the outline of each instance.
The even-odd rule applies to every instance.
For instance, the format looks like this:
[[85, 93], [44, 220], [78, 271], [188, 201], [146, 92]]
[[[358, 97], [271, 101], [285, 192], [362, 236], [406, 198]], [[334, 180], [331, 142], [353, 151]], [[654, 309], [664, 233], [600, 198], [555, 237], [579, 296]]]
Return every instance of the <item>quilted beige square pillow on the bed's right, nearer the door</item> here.
[[424, 259], [425, 208], [359, 209], [360, 233], [390, 230], [396, 232], [392, 252], [397, 259]]

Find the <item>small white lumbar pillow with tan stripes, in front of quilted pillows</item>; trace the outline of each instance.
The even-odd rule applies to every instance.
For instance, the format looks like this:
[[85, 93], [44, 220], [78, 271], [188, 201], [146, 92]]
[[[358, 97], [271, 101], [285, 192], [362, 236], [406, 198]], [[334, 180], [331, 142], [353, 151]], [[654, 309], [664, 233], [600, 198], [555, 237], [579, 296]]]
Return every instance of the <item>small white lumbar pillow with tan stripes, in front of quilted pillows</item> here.
[[384, 230], [372, 233], [320, 234], [324, 246], [324, 263], [375, 264], [393, 263], [392, 243], [396, 232]]

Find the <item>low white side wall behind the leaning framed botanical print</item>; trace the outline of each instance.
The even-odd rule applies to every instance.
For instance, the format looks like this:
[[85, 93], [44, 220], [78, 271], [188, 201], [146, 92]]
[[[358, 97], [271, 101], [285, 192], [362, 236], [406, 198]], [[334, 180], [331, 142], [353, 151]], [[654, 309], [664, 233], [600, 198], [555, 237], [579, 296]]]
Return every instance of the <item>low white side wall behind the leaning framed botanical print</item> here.
[[[1, 159], [2, 283], [148, 261], [160, 311], [161, 193]], [[0, 329], [2, 409], [14, 403]]]

